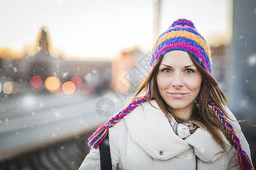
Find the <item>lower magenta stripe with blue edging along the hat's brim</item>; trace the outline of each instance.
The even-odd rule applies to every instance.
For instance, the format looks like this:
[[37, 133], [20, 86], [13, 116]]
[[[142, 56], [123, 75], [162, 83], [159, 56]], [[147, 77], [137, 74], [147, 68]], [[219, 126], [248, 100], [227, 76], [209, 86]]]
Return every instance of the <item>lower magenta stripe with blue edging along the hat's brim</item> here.
[[167, 52], [170, 52], [170, 51], [173, 51], [173, 50], [183, 50], [184, 52], [192, 54], [201, 63], [203, 63], [203, 66], [204, 66], [205, 70], [207, 70], [207, 72], [210, 74], [210, 69], [207, 65], [207, 61], [205, 61], [205, 58], [204, 58], [203, 54], [200, 52], [200, 50], [197, 49], [195, 46], [189, 45], [189, 44], [184, 43], [184, 42], [177, 42], [177, 43], [168, 44], [166, 46], [163, 46], [163, 48], [158, 50], [158, 52], [156, 53], [154, 61], [152, 63], [152, 66], [155, 65], [155, 62], [158, 60], [159, 57], [161, 57], [164, 54], [166, 54]]

